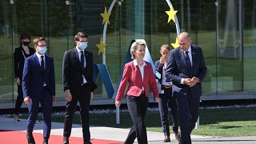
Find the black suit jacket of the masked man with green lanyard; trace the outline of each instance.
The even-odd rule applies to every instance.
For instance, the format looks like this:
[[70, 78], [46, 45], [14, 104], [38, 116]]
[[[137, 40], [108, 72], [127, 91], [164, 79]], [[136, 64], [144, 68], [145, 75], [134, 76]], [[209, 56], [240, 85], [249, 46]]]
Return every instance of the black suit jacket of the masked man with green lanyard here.
[[62, 66], [64, 91], [70, 90], [71, 92], [76, 92], [79, 90], [79, 86], [82, 84], [82, 74], [90, 84], [91, 91], [94, 91], [94, 89], [97, 88], [92, 79], [94, 68], [93, 54], [86, 50], [84, 50], [84, 54], [86, 57], [86, 67], [82, 69], [80, 66], [78, 50], [74, 48], [65, 52]]

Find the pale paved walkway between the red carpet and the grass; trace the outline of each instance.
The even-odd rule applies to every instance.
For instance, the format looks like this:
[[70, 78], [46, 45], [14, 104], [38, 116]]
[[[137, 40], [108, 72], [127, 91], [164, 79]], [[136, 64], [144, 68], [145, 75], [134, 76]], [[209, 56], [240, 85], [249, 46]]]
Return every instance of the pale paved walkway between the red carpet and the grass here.
[[[21, 122], [16, 123], [13, 118], [5, 118], [0, 116], [0, 130], [22, 130], [26, 131], [26, 120], [22, 119]], [[42, 134], [42, 124], [36, 124], [34, 127], [35, 133]], [[63, 123], [52, 122], [51, 134], [62, 135], [63, 133]], [[90, 126], [91, 138], [106, 139], [106, 140], [116, 140], [125, 141], [129, 129], [112, 128], [105, 126]], [[72, 129], [73, 137], [82, 137], [82, 128], [80, 125], [74, 124]], [[148, 141], [150, 144], [163, 143], [163, 134], [158, 132], [147, 132]], [[174, 139], [174, 134], [170, 135], [171, 143], [178, 144], [178, 141]], [[192, 135], [193, 144], [255, 144], [256, 137], [238, 137], [238, 138], [212, 138], [205, 136]], [[137, 142], [135, 142], [137, 143]]]

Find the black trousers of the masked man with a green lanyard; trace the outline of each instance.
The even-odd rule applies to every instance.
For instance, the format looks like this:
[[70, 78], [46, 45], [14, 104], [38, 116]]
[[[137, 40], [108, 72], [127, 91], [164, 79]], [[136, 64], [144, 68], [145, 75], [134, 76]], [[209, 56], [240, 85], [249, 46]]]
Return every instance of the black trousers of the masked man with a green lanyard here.
[[90, 86], [80, 86], [79, 91], [72, 94], [72, 101], [66, 103], [66, 114], [64, 119], [64, 132], [63, 136], [69, 138], [72, 129], [73, 115], [79, 102], [80, 118], [82, 121], [82, 133], [84, 142], [90, 141]]

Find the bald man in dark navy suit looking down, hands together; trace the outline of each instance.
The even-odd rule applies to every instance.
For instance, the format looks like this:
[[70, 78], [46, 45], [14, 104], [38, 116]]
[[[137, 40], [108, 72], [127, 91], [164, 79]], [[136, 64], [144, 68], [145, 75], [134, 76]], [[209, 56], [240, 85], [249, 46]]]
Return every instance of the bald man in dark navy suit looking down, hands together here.
[[166, 78], [173, 82], [173, 96], [177, 98], [182, 144], [191, 143], [190, 134], [198, 120], [201, 82], [207, 70], [202, 49], [191, 42], [190, 34], [179, 34], [179, 48], [170, 51], [166, 67]]

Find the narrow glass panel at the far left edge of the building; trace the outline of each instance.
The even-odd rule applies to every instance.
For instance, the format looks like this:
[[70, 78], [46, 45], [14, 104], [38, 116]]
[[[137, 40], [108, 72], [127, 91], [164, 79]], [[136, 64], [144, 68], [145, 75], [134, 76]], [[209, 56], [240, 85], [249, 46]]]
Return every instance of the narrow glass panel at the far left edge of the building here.
[[[0, 2], [0, 102], [13, 102], [13, 12], [9, 1]], [[17, 86], [16, 86], [17, 87]]]

